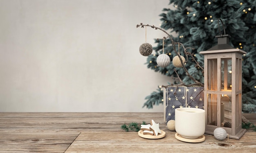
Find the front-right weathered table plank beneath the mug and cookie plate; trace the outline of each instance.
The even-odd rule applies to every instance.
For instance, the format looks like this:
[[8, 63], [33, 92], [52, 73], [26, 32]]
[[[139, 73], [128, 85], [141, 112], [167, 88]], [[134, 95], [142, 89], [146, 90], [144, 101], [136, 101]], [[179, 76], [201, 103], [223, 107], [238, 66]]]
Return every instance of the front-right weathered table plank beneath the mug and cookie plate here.
[[[162, 139], [145, 139], [137, 132], [91, 131], [81, 132], [65, 153], [83, 152], [254, 152], [256, 149], [256, 133], [246, 133], [240, 140], [216, 140], [214, 136], [205, 135], [206, 140], [200, 143], [187, 143], [177, 140], [175, 132], [166, 130]], [[251, 138], [253, 135], [254, 138]], [[247, 140], [251, 138], [251, 140]]]

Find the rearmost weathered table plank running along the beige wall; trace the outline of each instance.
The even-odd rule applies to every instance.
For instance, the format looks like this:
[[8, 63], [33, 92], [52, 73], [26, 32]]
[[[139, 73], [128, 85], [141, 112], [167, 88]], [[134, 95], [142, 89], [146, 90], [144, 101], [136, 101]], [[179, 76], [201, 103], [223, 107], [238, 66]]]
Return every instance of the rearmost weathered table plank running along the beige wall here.
[[163, 113], [0, 113], [2, 123], [116, 123], [142, 122], [151, 119], [164, 122]]

